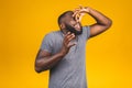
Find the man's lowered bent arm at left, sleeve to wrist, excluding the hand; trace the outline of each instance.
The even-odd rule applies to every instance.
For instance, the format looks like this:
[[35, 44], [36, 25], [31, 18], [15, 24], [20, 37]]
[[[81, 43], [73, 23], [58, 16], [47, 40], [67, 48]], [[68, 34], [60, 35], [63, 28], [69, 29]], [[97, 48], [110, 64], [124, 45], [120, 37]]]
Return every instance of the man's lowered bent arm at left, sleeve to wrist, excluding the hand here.
[[35, 59], [35, 70], [41, 73], [51, 69], [63, 56], [61, 53], [52, 55], [46, 51], [40, 50]]

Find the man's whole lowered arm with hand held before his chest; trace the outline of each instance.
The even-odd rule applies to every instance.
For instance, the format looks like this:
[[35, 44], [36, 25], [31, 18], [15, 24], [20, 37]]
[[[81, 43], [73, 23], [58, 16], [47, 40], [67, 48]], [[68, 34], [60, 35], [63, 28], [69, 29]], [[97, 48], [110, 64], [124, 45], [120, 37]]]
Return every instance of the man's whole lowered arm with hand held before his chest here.
[[68, 32], [64, 37], [62, 50], [54, 55], [40, 50], [35, 59], [35, 70], [41, 73], [54, 67], [68, 53], [69, 48], [75, 45], [74, 43], [69, 43], [74, 37], [75, 35]]

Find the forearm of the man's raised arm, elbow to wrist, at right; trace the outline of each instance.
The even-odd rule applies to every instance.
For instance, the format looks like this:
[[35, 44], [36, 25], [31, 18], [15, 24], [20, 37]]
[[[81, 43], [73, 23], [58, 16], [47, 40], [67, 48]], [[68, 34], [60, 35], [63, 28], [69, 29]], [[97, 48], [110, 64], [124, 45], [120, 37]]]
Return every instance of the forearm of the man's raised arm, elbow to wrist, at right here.
[[111, 25], [111, 20], [106, 15], [103, 15], [102, 13], [100, 13], [99, 11], [88, 8], [87, 13], [90, 14], [92, 18], [95, 18], [98, 24], [106, 25], [106, 26]]

